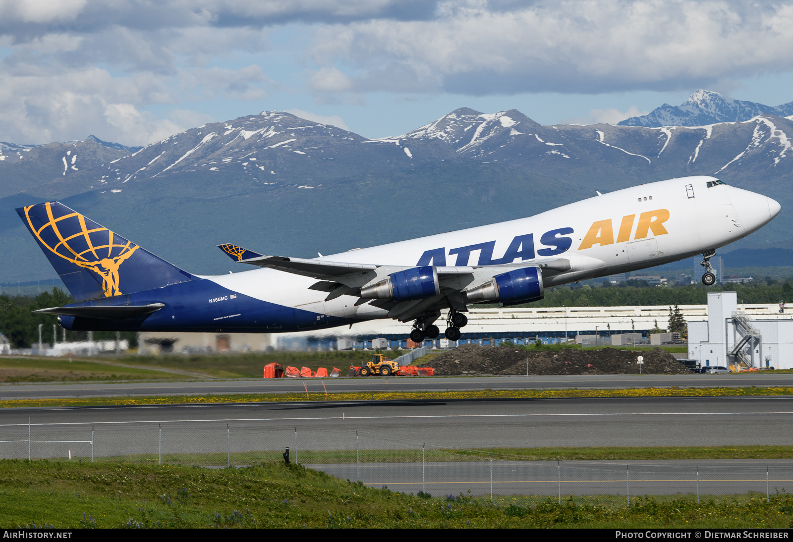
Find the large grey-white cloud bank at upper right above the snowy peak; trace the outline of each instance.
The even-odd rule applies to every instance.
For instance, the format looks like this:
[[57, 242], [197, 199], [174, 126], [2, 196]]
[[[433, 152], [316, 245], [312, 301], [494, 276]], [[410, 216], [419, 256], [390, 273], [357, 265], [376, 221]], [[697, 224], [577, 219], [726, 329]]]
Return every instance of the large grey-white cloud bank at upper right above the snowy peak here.
[[[488, 10], [445, 2], [430, 21], [326, 25], [312, 57], [353, 63], [354, 88], [389, 63], [461, 94], [669, 90], [793, 69], [793, 5], [721, 0], [562, 0]], [[374, 74], [367, 78], [367, 73]], [[386, 79], [378, 90], [389, 90]]]

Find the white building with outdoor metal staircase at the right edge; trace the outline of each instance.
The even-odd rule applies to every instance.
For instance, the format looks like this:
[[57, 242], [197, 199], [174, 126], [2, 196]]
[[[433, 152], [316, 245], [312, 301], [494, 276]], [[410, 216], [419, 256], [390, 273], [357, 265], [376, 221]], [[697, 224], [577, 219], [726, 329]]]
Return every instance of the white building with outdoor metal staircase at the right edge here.
[[688, 323], [688, 357], [703, 366], [793, 368], [793, 319], [741, 308], [735, 292], [709, 292], [707, 321]]

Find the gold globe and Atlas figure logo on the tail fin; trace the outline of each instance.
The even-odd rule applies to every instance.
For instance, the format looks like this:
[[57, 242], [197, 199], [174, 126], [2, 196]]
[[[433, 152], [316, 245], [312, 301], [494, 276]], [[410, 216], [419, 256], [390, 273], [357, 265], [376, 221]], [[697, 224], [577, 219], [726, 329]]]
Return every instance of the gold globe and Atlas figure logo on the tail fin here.
[[[29, 214], [30, 209], [36, 206], [25, 207], [25, 219], [36, 239], [53, 254], [102, 277], [105, 297], [121, 296], [118, 268], [138, 246], [121, 238], [125, 242], [116, 242], [117, 236], [106, 227], [86, 227], [86, 219], [79, 212], [56, 217], [51, 204], [44, 206], [48, 221], [40, 227], [33, 225]], [[61, 229], [68, 230], [68, 234], [64, 236]]]

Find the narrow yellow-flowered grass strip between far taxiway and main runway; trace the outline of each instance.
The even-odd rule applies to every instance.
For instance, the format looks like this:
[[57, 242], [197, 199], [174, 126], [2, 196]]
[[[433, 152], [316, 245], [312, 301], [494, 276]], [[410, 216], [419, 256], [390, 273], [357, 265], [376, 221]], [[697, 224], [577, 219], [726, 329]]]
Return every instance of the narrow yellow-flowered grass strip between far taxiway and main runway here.
[[[383, 379], [385, 380], [385, 379]], [[235, 394], [235, 395], [147, 395], [141, 397], [86, 397], [79, 399], [10, 399], [0, 401], [0, 408], [31, 406], [105, 406], [105, 405], [174, 405], [202, 403], [283, 403], [283, 402], [362, 402], [362, 401], [444, 401], [453, 399], [568, 399], [597, 397], [737, 397], [752, 395], [793, 395], [793, 387], [688, 387], [626, 388], [596, 390], [491, 390], [482, 391], [360, 391], [335, 392], [326, 396], [317, 392], [321, 382], [297, 380], [295, 387], [310, 385], [308, 394]], [[385, 382], [384, 382], [385, 387]]]

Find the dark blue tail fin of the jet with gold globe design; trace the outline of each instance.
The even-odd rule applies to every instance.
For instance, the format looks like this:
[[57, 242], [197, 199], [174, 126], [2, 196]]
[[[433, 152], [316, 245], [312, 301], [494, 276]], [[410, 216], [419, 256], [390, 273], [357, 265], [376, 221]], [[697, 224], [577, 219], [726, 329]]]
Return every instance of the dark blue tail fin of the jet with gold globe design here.
[[57, 201], [17, 213], [77, 301], [190, 281], [182, 271]]

